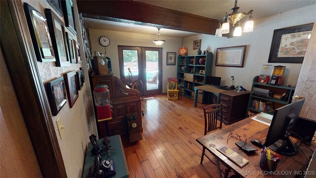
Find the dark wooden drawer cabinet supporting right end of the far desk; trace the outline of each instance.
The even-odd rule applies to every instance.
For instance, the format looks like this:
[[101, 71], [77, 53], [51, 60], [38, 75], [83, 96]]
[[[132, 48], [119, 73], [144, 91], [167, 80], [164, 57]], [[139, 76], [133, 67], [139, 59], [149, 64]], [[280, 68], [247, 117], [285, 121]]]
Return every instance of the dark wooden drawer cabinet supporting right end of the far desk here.
[[236, 92], [228, 90], [219, 93], [219, 102], [222, 103], [223, 123], [233, 124], [246, 118], [250, 91]]

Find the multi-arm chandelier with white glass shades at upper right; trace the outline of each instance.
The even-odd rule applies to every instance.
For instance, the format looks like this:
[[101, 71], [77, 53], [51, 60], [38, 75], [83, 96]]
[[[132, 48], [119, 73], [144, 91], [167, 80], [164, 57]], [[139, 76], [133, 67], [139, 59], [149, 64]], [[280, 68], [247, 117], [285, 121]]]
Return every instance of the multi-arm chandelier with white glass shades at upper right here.
[[253, 31], [253, 20], [252, 20], [252, 11], [250, 10], [248, 13], [245, 12], [237, 12], [239, 9], [239, 7], [237, 7], [237, 0], [235, 0], [235, 6], [231, 9], [232, 13], [228, 13], [226, 12], [224, 20], [219, 20], [219, 24], [217, 26], [216, 29], [216, 33], [215, 33], [215, 37], [221, 37], [222, 34], [228, 34], [229, 33], [229, 27], [230, 24], [232, 24], [233, 26], [235, 26], [235, 24], [237, 24], [237, 27], [235, 28], [234, 31], [234, 37], [238, 37], [241, 36], [242, 33], [242, 29], [240, 26], [240, 20], [249, 15], [248, 16], [248, 20], [245, 23], [245, 26], [243, 28], [243, 32], [247, 33], [247, 32], [252, 32]]

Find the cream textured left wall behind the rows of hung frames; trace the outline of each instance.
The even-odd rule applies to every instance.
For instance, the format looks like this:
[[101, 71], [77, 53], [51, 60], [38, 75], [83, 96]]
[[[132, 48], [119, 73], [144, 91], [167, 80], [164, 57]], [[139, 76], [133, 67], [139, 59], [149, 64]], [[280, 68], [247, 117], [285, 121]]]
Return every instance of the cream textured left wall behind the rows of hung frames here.
[[[23, 0], [23, 2], [29, 3], [38, 11], [40, 11], [41, 14], [44, 14], [44, 8], [51, 8], [45, 0]], [[78, 12], [76, 1], [74, 1], [74, 7], [76, 14]], [[64, 21], [63, 18], [61, 19]], [[83, 46], [81, 33], [79, 30], [78, 16], [75, 17], [75, 21], [77, 29], [77, 37], [75, 37], [75, 40], [79, 42], [80, 46]], [[67, 28], [65, 29], [67, 32], [69, 32]], [[53, 78], [62, 77], [64, 73], [72, 70], [78, 71], [79, 67], [84, 67], [84, 75], [86, 80], [84, 82], [83, 88], [79, 90], [79, 98], [77, 99], [75, 105], [73, 108], [70, 108], [67, 98], [67, 103], [61, 109], [58, 115], [52, 116], [59, 147], [63, 156], [67, 176], [69, 178], [81, 177], [82, 165], [84, 161], [84, 149], [86, 144], [89, 142], [88, 136], [92, 133], [97, 134], [89, 78], [86, 70], [86, 61], [83, 56], [84, 53], [81, 48], [81, 59], [83, 62], [81, 64], [71, 64], [67, 67], [55, 67], [54, 62], [37, 62], [43, 84]], [[48, 99], [47, 94], [46, 99]], [[63, 126], [65, 127], [65, 132], [62, 139], [60, 139], [56, 126], [56, 119], [59, 116], [61, 117]]]

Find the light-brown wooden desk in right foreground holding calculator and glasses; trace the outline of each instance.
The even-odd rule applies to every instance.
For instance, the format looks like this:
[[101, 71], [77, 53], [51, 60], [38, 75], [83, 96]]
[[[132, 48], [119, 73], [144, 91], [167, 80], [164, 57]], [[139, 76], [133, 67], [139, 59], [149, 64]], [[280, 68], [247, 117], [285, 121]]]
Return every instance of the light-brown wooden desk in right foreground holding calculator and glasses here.
[[[230, 168], [231, 170], [233, 170], [240, 177], [243, 177], [243, 178], [263, 177], [264, 172], [263, 171], [261, 172], [261, 168], [259, 166], [260, 152], [261, 152], [260, 148], [254, 146], [258, 148], [258, 151], [246, 154], [242, 150], [238, 149], [237, 145], [235, 144], [235, 142], [238, 141], [237, 139], [231, 137], [228, 140], [228, 144], [226, 143], [226, 141], [227, 141], [227, 136], [232, 132], [246, 137], [247, 142], [249, 144], [250, 144], [249, 140], [251, 139], [265, 141], [268, 130], [269, 130], [269, 126], [259, 123], [257, 121], [254, 121], [251, 118], [246, 118], [242, 121], [239, 121], [230, 126], [227, 126], [224, 129], [220, 129], [215, 132], [211, 132], [210, 134], [199, 137], [197, 138], [197, 142], [200, 143], [202, 146], [205, 146], [206, 149], [214, 157], [217, 157], [222, 164], [224, 164], [227, 168]], [[216, 150], [216, 148], [221, 145], [228, 146], [229, 148], [231, 148], [232, 150], [234, 150], [235, 152], [237, 152], [238, 154], [246, 158], [249, 161], [249, 163], [243, 168], [239, 168], [236, 164], [231, 162], [226, 156], [224, 156], [223, 154], [221, 154], [219, 151]], [[310, 146], [310, 148], [313, 151], [315, 151], [315, 145]], [[304, 165], [307, 165], [311, 159], [311, 156], [313, 155], [313, 152], [306, 146], [301, 146], [300, 149], [303, 150], [303, 152], [309, 158], [309, 160], [306, 159], [306, 157], [304, 156], [301, 150], [299, 151], [298, 154], [292, 157], [281, 155], [282, 158], [276, 168], [276, 173], [278, 175], [274, 175], [274, 176], [265, 175], [264, 177], [289, 178], [289, 177], [298, 176], [298, 171], [304, 171], [307, 167], [297, 163], [293, 159], [297, 160], [300, 163], [303, 163]], [[282, 175], [281, 171], [288, 171], [287, 172], [288, 175], [284, 175], [284, 174]], [[295, 173], [294, 171], [297, 171], [297, 172]]]

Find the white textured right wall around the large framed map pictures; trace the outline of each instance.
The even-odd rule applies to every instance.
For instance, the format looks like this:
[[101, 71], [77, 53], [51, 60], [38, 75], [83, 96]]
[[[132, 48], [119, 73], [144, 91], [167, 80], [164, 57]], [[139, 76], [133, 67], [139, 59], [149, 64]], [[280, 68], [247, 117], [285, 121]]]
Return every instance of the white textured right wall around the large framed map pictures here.
[[[253, 13], [255, 15], [255, 12]], [[254, 31], [243, 33], [241, 37], [235, 38], [216, 38], [213, 35], [196, 35], [185, 38], [184, 46], [188, 47], [188, 54], [196, 54], [197, 50], [192, 49], [194, 40], [201, 39], [201, 50], [208, 49], [214, 54], [212, 76], [222, 77], [222, 85], [230, 86], [231, 76], [235, 77], [235, 86], [242, 84], [246, 89], [251, 89], [252, 80], [260, 74], [261, 65], [283, 65], [289, 68], [289, 75], [284, 84], [296, 86], [298, 75], [302, 64], [289, 63], [268, 63], [273, 32], [275, 29], [292, 27], [314, 23], [316, 21], [316, 4], [299, 9], [279, 13], [266, 18], [254, 21]], [[247, 45], [243, 68], [219, 67], [215, 66], [216, 48]]]

